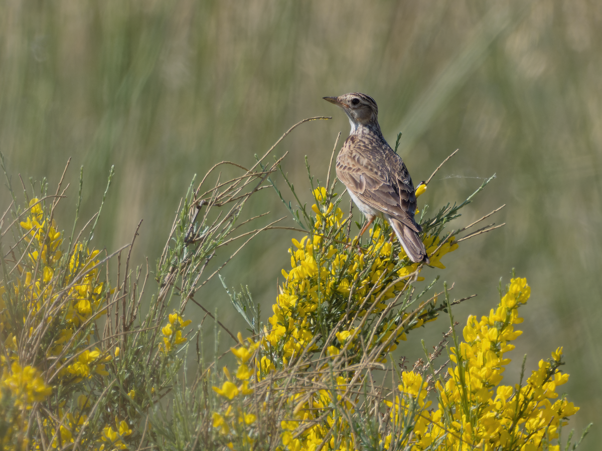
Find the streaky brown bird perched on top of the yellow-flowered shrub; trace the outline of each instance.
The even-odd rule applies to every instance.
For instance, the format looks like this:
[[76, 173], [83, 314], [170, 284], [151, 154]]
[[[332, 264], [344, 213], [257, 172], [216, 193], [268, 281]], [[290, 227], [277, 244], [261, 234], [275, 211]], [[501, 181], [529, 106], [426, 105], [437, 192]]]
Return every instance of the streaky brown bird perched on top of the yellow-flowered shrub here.
[[380, 131], [378, 106], [367, 94], [323, 97], [343, 109], [351, 132], [337, 156], [337, 177], [367, 218], [362, 236], [377, 217], [386, 219], [414, 263], [429, 263], [420, 239], [422, 227], [414, 220], [416, 192], [402, 158]]

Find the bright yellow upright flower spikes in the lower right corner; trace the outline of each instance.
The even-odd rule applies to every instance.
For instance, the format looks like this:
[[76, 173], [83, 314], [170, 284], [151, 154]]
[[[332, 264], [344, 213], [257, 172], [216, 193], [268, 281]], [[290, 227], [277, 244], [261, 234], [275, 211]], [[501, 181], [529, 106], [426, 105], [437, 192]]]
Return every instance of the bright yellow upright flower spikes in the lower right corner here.
[[[450, 349], [455, 365], [448, 368], [446, 381], [435, 383], [438, 408], [429, 411], [420, 405], [420, 411], [413, 413], [413, 450], [541, 450], [544, 445], [545, 449], [560, 449], [551, 440], [558, 438], [560, 426], [566, 425], [563, 419], [579, 410], [556, 393], [556, 387], [568, 380], [568, 375], [559, 371], [562, 348], [552, 352], [550, 361], [539, 361], [539, 368], [525, 384], [501, 385], [510, 363], [505, 354], [514, 349], [510, 342], [521, 335], [514, 328], [523, 322], [517, 309], [529, 295], [526, 279], [513, 278], [489, 316], [480, 321], [468, 318], [465, 341]], [[422, 384], [418, 374], [412, 377], [418, 381], [414, 388], [406, 390], [400, 385], [399, 390], [426, 396], [427, 384]], [[415, 387], [420, 385], [417, 391]], [[408, 411], [399, 400], [391, 407], [391, 416]], [[391, 435], [385, 438], [386, 449], [391, 440]]]

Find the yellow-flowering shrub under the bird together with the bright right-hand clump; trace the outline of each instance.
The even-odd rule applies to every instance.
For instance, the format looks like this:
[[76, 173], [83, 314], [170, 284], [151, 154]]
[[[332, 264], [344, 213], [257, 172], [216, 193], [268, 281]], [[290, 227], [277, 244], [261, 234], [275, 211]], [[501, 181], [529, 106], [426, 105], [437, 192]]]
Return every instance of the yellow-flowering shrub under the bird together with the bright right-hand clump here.
[[[246, 340], [239, 334], [231, 349], [237, 370], [224, 367], [226, 380], [213, 387], [221, 399], [212, 413], [219, 443], [282, 451], [559, 450], [557, 431], [578, 410], [554, 391], [568, 379], [559, 370], [562, 349], [525, 382], [501, 383], [510, 363], [504, 354], [521, 334], [515, 325], [529, 299], [526, 280], [513, 278], [489, 316], [470, 316], [464, 342], [452, 327], [447, 373], [435, 372], [427, 355], [429, 364], [377, 389], [374, 372], [387, 368], [390, 352], [440, 311], [451, 314], [451, 303], [447, 291], [421, 302], [432, 287], [415, 288], [426, 266], [405, 258], [386, 224], [356, 246], [332, 195], [317, 188], [314, 197], [311, 232], [293, 239], [269, 325]], [[441, 237], [448, 219], [438, 215], [425, 227], [436, 268], [458, 248], [453, 236]]]

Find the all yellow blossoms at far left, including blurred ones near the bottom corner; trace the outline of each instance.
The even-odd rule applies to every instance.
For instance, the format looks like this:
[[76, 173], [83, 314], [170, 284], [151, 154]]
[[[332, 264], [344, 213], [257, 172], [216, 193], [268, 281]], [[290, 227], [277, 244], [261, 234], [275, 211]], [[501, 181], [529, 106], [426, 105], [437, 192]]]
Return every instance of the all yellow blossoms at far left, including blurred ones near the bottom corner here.
[[[95, 319], [105, 313], [107, 299], [99, 251], [77, 242], [65, 256], [62, 233], [43, 204], [38, 198], [29, 201], [28, 216], [19, 224], [22, 239], [13, 248], [22, 258], [14, 264], [13, 278], [0, 286], [0, 405], [8, 420], [1, 440], [6, 449], [28, 446], [23, 433], [31, 429], [28, 417], [34, 403], [44, 402], [55, 390], [60, 396], [86, 393], [82, 383], [108, 375], [105, 366], [111, 360], [93, 346]], [[84, 405], [73, 411], [63, 411], [63, 405], [58, 403], [53, 416], [34, 423], [48, 432], [54, 447], [74, 443], [87, 423]]]

